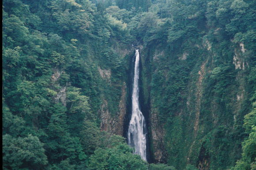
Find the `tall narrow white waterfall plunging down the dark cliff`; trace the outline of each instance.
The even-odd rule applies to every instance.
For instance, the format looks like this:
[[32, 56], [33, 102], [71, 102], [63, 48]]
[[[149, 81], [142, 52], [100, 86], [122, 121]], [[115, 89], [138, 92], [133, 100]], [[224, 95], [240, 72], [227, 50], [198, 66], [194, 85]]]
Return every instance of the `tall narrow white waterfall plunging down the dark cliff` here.
[[136, 60], [132, 87], [132, 118], [128, 129], [128, 145], [135, 148], [135, 154], [146, 158], [146, 123], [142, 112], [139, 110], [139, 50], [136, 50]]

